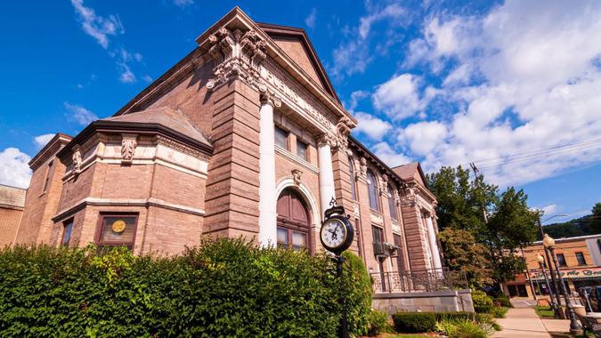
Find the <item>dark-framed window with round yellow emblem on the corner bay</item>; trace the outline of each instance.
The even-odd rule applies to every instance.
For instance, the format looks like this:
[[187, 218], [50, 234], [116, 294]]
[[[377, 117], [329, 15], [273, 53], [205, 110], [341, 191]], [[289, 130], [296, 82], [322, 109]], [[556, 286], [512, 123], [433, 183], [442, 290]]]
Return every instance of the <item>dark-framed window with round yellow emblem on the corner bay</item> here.
[[98, 234], [98, 246], [127, 246], [134, 249], [135, 229], [138, 215], [134, 213], [110, 214], [102, 213]]

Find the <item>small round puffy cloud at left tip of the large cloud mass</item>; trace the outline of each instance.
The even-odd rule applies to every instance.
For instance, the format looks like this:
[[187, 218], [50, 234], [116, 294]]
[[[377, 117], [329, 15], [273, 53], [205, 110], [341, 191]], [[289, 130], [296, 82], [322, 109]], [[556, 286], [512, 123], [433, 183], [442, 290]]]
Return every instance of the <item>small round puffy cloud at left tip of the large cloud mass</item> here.
[[374, 107], [384, 111], [393, 120], [402, 120], [413, 116], [422, 108], [418, 96], [419, 79], [411, 74], [394, 76], [384, 84], [378, 85], [373, 94]]

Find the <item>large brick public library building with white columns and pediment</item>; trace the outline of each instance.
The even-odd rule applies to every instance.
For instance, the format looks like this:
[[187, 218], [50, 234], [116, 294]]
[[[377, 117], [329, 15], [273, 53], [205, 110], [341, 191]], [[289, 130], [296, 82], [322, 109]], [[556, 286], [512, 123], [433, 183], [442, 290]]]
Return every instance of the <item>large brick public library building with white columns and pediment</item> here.
[[243, 236], [314, 253], [335, 198], [372, 273], [442, 268], [420, 166], [390, 168], [349, 135], [303, 29], [234, 8], [196, 42], [113, 117], [34, 157], [17, 243], [178, 254]]

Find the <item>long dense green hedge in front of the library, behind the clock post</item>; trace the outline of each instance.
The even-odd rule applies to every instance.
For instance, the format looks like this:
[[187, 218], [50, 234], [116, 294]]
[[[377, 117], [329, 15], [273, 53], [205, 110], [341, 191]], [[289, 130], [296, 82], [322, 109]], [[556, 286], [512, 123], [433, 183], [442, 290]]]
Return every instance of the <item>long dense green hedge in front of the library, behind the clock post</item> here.
[[340, 290], [350, 289], [352, 333], [367, 330], [369, 277], [349, 271], [354, 261], [340, 287], [328, 257], [239, 239], [170, 258], [95, 253], [0, 251], [0, 336], [335, 337]]

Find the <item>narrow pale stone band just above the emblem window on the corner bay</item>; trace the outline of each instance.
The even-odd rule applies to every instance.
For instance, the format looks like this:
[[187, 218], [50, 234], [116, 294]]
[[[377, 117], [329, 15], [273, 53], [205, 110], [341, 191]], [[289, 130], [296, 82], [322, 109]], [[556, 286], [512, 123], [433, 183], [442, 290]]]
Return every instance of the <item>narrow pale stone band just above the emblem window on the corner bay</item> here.
[[158, 198], [140, 198], [140, 199], [127, 199], [127, 198], [95, 198], [95, 197], [85, 197], [81, 201], [77, 202], [75, 205], [61, 210], [53, 216], [52, 220], [54, 222], [60, 221], [66, 217], [68, 217], [71, 213], [77, 212], [77, 210], [85, 208], [87, 205], [93, 206], [156, 206], [169, 210], [174, 210], [181, 213], [191, 213], [195, 215], [204, 216], [205, 211], [199, 208], [193, 208], [185, 205], [176, 205], [174, 203], [166, 202], [162, 199]]

